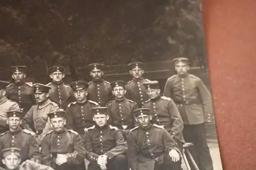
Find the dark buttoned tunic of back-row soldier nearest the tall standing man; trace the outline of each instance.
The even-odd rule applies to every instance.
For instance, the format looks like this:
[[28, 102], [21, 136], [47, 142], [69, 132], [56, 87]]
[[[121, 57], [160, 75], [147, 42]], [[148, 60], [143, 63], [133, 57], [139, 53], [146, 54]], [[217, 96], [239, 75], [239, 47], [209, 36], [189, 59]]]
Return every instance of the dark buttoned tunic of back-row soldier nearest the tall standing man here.
[[138, 107], [141, 107], [145, 101], [150, 99], [146, 93], [145, 87], [143, 86], [144, 82], [149, 81], [148, 79], [141, 78], [139, 80], [133, 79], [125, 85], [125, 94], [126, 99], [130, 99], [138, 104]]

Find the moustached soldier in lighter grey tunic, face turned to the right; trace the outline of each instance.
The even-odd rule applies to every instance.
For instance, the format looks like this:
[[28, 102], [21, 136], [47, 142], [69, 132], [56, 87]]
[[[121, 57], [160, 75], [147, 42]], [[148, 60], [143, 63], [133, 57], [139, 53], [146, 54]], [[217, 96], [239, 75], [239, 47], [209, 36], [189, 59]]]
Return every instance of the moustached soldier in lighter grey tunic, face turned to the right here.
[[47, 113], [59, 110], [59, 106], [49, 99], [51, 87], [40, 83], [34, 83], [34, 95], [36, 105], [33, 105], [23, 118], [22, 128], [33, 131], [40, 143], [42, 136], [52, 130]]

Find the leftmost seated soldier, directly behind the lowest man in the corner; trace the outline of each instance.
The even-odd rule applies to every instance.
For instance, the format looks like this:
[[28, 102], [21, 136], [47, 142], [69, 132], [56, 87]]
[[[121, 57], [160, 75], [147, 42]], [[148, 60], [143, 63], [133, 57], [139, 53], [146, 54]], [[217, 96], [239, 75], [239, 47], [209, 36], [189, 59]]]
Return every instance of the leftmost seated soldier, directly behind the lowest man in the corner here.
[[19, 125], [22, 122], [21, 111], [8, 111], [7, 123], [9, 131], [0, 135], [0, 149], [19, 148], [21, 150], [21, 162], [30, 159], [35, 162], [40, 162], [41, 155], [39, 152], [39, 145], [33, 132], [27, 129], [22, 130]]

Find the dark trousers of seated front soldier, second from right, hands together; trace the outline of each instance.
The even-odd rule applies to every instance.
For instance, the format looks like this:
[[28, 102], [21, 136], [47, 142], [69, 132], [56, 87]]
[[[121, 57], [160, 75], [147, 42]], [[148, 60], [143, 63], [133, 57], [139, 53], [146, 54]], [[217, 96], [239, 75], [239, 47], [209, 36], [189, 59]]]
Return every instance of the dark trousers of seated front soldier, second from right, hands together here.
[[[128, 166], [126, 156], [123, 154], [117, 155], [106, 163], [106, 167], [108, 170], [127, 170]], [[101, 168], [97, 162], [90, 162], [88, 165], [88, 170], [101, 170]]]

